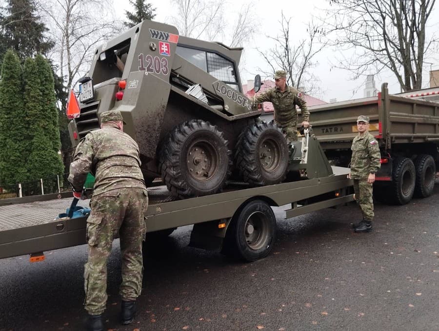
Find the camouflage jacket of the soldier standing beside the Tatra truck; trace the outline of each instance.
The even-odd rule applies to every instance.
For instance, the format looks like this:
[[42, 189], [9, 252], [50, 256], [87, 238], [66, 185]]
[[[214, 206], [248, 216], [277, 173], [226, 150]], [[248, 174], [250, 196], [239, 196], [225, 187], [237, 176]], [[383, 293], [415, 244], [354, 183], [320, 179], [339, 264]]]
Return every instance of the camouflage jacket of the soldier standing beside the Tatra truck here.
[[357, 135], [352, 142], [351, 178], [367, 179], [378, 171], [381, 154], [378, 141], [369, 132]]

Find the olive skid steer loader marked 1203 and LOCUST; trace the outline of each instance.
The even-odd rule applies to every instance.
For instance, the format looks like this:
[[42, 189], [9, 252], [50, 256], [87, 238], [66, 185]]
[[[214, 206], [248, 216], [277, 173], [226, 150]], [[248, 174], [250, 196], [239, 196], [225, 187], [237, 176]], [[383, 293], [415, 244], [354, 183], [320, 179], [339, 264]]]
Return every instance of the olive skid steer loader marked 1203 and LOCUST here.
[[100, 127], [100, 113], [117, 109], [139, 144], [147, 185], [161, 177], [174, 196], [186, 198], [220, 192], [231, 178], [280, 183], [288, 145], [243, 94], [241, 51], [179, 36], [159, 22], [134, 26], [98, 47], [80, 79], [78, 111], [68, 110], [73, 145]]

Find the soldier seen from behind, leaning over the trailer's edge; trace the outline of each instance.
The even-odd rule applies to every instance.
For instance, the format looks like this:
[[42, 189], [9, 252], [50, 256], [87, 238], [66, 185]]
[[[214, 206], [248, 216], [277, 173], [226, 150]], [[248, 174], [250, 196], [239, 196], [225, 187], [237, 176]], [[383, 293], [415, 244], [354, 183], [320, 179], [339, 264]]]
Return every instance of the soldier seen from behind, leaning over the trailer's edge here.
[[84, 270], [87, 329], [93, 331], [103, 330], [107, 259], [118, 232], [122, 255], [121, 322], [129, 324], [134, 319], [143, 277], [142, 241], [148, 206], [139, 146], [123, 132], [122, 115], [119, 111], [106, 111], [100, 122], [101, 129], [91, 131], [80, 141], [69, 175], [75, 197], [80, 197], [89, 172], [96, 177], [87, 219], [88, 262]]

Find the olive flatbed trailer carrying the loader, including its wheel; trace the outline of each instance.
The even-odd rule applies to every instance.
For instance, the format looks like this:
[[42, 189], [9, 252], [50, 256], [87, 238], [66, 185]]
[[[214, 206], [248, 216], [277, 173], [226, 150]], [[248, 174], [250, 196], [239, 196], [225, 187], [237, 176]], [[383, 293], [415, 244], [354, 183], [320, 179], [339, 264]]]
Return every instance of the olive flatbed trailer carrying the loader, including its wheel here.
[[[194, 225], [190, 245], [222, 251], [246, 261], [265, 257], [276, 238], [276, 218], [270, 206], [291, 204], [286, 218], [353, 200], [349, 169], [333, 166], [333, 175], [271, 186], [229, 186], [224, 192], [175, 200], [165, 186], [148, 188], [145, 214], [147, 237], [167, 235]], [[87, 217], [56, 219], [72, 202], [72, 194], [0, 201], [0, 258], [85, 244]], [[88, 200], [80, 201], [87, 207]]]

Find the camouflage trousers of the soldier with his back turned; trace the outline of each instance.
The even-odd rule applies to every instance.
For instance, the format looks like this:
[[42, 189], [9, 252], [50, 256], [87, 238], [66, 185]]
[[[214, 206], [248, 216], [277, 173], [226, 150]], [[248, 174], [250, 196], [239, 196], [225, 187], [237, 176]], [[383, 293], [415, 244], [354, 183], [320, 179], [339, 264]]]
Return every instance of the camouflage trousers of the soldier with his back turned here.
[[92, 197], [87, 219], [88, 261], [84, 268], [85, 310], [99, 315], [107, 302], [107, 259], [119, 232], [122, 256], [120, 296], [136, 300], [142, 289], [142, 242], [148, 193], [142, 188], [115, 189]]

